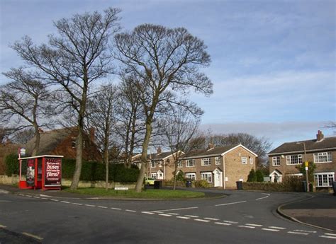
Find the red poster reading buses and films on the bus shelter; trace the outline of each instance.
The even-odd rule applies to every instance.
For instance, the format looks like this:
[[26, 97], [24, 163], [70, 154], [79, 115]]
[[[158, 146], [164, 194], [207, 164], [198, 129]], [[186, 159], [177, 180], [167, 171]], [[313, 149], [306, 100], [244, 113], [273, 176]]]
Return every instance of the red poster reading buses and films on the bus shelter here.
[[60, 187], [62, 179], [61, 158], [45, 158], [45, 186]]

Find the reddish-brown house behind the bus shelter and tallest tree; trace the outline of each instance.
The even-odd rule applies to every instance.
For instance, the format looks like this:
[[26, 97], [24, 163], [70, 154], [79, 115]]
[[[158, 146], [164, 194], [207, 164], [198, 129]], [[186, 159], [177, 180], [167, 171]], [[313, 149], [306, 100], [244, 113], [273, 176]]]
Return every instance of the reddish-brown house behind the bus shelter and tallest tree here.
[[[62, 155], [65, 158], [76, 158], [76, 127], [54, 129], [40, 133], [40, 148], [38, 155]], [[35, 139], [26, 144], [27, 156], [33, 151]], [[101, 161], [101, 153], [95, 143], [94, 128], [89, 134], [84, 134], [83, 159], [86, 161]]]

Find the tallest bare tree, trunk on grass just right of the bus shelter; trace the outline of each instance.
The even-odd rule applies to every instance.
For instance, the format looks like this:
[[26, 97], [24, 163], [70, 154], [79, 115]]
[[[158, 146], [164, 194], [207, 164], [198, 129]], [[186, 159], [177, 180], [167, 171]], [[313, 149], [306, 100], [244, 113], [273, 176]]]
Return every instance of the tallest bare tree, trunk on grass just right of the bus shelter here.
[[54, 25], [58, 36], [49, 35], [48, 45], [33, 45], [29, 37], [23, 37], [12, 48], [45, 81], [60, 86], [64, 104], [74, 111], [77, 119], [77, 156], [74, 177], [70, 188], [77, 189], [82, 170], [84, 119], [86, 103], [95, 81], [111, 73], [111, 55], [108, 55], [108, 38], [119, 30], [118, 8], [108, 8], [104, 14], [75, 14], [62, 18]]

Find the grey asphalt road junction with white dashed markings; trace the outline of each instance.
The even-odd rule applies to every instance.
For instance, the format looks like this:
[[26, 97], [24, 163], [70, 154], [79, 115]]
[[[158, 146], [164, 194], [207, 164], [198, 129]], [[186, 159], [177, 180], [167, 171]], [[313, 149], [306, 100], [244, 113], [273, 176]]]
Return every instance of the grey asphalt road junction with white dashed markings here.
[[[228, 197], [169, 201], [0, 193], [0, 227], [43, 243], [336, 243], [335, 233], [276, 214], [302, 195], [223, 193]], [[1, 235], [0, 243], [7, 243]]]

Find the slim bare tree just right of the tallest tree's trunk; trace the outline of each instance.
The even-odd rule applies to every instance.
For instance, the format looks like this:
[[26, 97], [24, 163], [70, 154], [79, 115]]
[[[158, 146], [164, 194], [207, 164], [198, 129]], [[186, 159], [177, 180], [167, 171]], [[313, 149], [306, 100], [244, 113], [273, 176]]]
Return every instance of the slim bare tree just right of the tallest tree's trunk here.
[[106, 190], [108, 190], [109, 149], [113, 146], [111, 133], [115, 127], [116, 100], [116, 86], [108, 83], [102, 85], [88, 103], [89, 124], [96, 129], [96, 142], [103, 153], [103, 162], [106, 165]]

